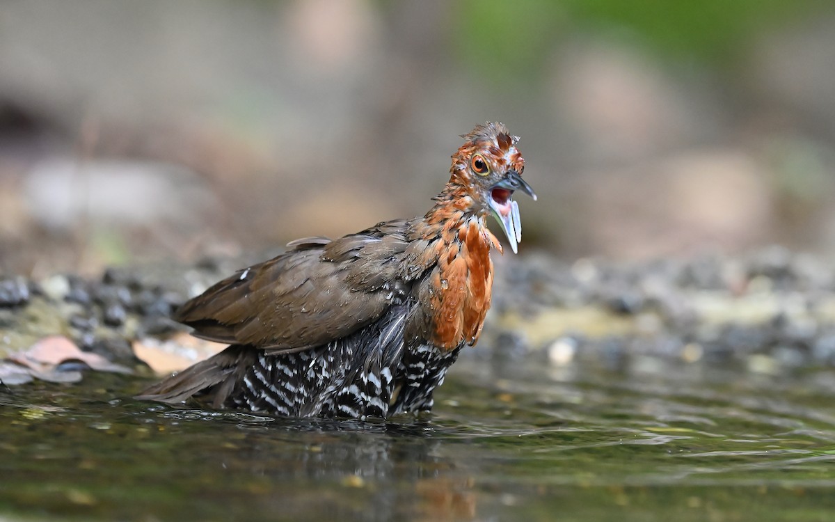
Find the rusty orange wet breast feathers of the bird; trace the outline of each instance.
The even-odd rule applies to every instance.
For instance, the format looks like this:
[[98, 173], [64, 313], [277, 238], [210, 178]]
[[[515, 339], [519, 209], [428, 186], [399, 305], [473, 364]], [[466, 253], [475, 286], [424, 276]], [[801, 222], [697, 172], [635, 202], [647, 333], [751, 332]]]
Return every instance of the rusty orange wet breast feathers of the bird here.
[[437, 347], [452, 350], [462, 342], [475, 344], [490, 308], [493, 261], [498, 246], [481, 220], [473, 219], [438, 241], [438, 270], [433, 273], [433, 338]]

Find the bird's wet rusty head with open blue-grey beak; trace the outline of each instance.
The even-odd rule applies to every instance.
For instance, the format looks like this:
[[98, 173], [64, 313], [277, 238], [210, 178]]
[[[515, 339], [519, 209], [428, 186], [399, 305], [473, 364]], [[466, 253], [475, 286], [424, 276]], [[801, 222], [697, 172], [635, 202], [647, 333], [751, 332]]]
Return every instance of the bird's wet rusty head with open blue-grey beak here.
[[476, 125], [461, 136], [466, 139], [453, 155], [450, 185], [455, 185], [467, 210], [479, 215], [492, 214], [508, 236], [514, 253], [522, 239], [519, 205], [512, 199], [522, 190], [536, 200], [534, 190], [522, 179], [524, 159], [516, 149], [519, 138], [504, 124]]

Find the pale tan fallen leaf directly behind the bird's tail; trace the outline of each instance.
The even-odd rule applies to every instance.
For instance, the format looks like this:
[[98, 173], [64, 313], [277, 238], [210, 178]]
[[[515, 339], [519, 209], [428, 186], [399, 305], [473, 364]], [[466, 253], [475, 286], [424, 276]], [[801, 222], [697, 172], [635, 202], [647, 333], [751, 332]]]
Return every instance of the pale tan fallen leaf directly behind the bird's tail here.
[[134, 355], [154, 372], [179, 372], [198, 361], [222, 352], [227, 345], [205, 341], [180, 332], [165, 341], [147, 337], [134, 341]]

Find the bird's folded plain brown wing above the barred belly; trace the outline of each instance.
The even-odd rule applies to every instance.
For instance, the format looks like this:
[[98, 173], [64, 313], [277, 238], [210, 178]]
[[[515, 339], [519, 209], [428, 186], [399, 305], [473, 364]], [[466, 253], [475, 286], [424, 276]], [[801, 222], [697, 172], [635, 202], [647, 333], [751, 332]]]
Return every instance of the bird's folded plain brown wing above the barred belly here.
[[295, 250], [238, 271], [186, 302], [175, 320], [194, 335], [296, 352], [377, 320], [404, 293], [397, 260], [402, 221], [334, 241], [294, 241]]

